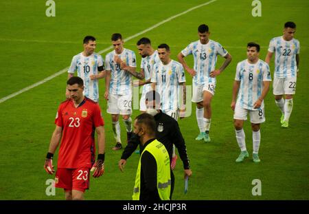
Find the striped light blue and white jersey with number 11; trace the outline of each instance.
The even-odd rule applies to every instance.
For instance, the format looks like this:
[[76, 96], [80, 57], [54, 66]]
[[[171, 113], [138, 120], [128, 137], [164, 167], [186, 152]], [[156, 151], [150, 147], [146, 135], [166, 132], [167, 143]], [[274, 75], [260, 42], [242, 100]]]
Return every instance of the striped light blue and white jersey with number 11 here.
[[168, 65], [163, 65], [161, 61], [154, 65], [152, 83], [156, 83], [156, 90], [161, 96], [161, 110], [174, 111], [179, 109], [179, 83], [185, 83], [185, 71], [181, 63], [174, 60]]

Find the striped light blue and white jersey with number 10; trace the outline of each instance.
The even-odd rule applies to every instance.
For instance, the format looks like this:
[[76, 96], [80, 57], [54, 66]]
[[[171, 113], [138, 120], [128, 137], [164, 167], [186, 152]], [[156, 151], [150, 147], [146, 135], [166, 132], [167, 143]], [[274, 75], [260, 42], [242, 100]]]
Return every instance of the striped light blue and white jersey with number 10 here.
[[77, 74], [84, 81], [84, 96], [98, 102], [99, 84], [98, 80], [91, 81], [90, 75], [98, 74], [98, 67], [104, 66], [104, 60], [100, 54], [93, 53], [90, 56], [84, 56], [82, 52], [73, 56], [68, 73]]

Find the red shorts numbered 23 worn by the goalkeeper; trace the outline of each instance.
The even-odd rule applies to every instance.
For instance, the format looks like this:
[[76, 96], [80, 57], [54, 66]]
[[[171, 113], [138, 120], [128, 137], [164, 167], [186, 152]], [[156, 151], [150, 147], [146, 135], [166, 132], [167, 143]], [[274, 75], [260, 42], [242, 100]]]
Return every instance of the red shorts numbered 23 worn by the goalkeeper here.
[[87, 167], [77, 169], [58, 168], [55, 177], [55, 186], [63, 188], [65, 191], [84, 191], [89, 189], [89, 173]]

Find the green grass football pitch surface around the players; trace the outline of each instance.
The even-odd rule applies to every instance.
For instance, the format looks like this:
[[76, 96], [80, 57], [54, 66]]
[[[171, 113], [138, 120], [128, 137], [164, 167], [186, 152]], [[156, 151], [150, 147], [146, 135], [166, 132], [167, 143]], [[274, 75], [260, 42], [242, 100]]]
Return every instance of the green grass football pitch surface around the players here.
[[[68, 67], [73, 55], [82, 51], [82, 39], [87, 34], [96, 37], [96, 51], [99, 52], [111, 45], [110, 37], [114, 32], [128, 38], [208, 0], [55, 1], [56, 17], [45, 16], [45, 1], [0, 1], [0, 98]], [[262, 17], [251, 15], [251, 3], [251, 0], [217, 0], [125, 43], [126, 48], [137, 54], [137, 40], [147, 36], [153, 47], [168, 43], [172, 58], [176, 60], [176, 54], [198, 40], [198, 25], [207, 23], [210, 39], [221, 43], [233, 57], [229, 67], [217, 78], [216, 95], [211, 103], [211, 143], [194, 140], [198, 134], [194, 104], [192, 115], [179, 121], [193, 175], [185, 195], [183, 167], [181, 161], [177, 162], [174, 200], [309, 199], [309, 1], [262, 0]], [[286, 21], [295, 21], [295, 38], [301, 43], [300, 75], [290, 127], [282, 129], [280, 126], [280, 112], [275, 106], [271, 87], [265, 102], [266, 122], [262, 125], [262, 161], [254, 164], [250, 157], [236, 164], [239, 149], [233, 129], [233, 111], [229, 107], [236, 64], [246, 58], [249, 41], [260, 43], [260, 58], [264, 60], [270, 39], [282, 35]], [[140, 60], [137, 56], [137, 67]], [[192, 56], [186, 61], [192, 66]], [[219, 57], [217, 65], [221, 63]], [[273, 62], [271, 73], [273, 76]], [[43, 163], [55, 127], [56, 110], [64, 100], [66, 79], [67, 73], [0, 103], [0, 200], [64, 199], [61, 189], [56, 190], [55, 196], [45, 194], [45, 181], [54, 176], [45, 173]], [[192, 78], [186, 75], [186, 79], [187, 85], [191, 85]], [[85, 198], [131, 200], [139, 156], [133, 153], [124, 173], [119, 171], [117, 162], [123, 150], [111, 150], [115, 141], [103, 94], [104, 80], [101, 80], [100, 106], [106, 122], [106, 172], [99, 179], [91, 178]], [[133, 118], [138, 113], [135, 110]], [[124, 130], [122, 124], [123, 142], [126, 138]], [[251, 154], [249, 122], [245, 122], [244, 130]], [[56, 160], [57, 154], [54, 164]], [[261, 196], [251, 194], [253, 179], [262, 182]]]

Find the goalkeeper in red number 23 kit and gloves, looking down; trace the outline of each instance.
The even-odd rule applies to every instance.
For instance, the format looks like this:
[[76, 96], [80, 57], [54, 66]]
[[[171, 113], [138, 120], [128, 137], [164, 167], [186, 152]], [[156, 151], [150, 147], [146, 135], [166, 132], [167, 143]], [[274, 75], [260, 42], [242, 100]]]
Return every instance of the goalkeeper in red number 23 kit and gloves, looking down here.
[[[62, 102], [56, 115], [44, 168], [54, 173], [52, 159], [59, 145], [55, 186], [65, 190], [66, 200], [83, 200], [89, 189], [89, 173], [98, 178], [104, 173], [105, 133], [100, 107], [83, 96], [82, 78], [73, 76], [67, 81], [70, 99]], [[94, 131], [98, 134], [98, 159], [95, 162]]]

